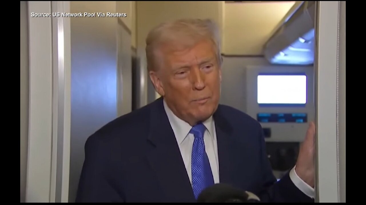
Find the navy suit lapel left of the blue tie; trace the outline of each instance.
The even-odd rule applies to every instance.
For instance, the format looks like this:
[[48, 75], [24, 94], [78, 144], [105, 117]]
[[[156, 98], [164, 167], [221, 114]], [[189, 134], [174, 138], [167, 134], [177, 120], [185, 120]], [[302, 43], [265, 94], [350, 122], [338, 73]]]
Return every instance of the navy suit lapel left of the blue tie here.
[[194, 202], [194, 194], [174, 132], [159, 98], [151, 110], [147, 158], [168, 201]]

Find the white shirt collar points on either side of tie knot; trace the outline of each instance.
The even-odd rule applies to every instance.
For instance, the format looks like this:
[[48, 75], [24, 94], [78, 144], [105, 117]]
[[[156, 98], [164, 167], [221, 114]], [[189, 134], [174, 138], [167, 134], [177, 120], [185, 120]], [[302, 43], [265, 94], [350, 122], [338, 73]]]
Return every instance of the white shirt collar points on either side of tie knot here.
[[[168, 107], [167, 103], [165, 102], [165, 100], [163, 100], [163, 104], [164, 104], [164, 109], [165, 112], [167, 113], [168, 116], [168, 120], [169, 123], [173, 129], [173, 132], [175, 134], [175, 137], [177, 139], [177, 142], [179, 144], [181, 144], [183, 142], [183, 140], [186, 138], [186, 136], [189, 134], [189, 131], [191, 130], [192, 126], [190, 124], [188, 124], [186, 121], [180, 119], [179, 117], [177, 117], [173, 111]], [[212, 138], [214, 138], [214, 121], [213, 121], [213, 117], [210, 116], [209, 119], [207, 119], [206, 121], [204, 121], [202, 123], [203, 125], [205, 125], [207, 131], [209, 132], [210, 136]]]

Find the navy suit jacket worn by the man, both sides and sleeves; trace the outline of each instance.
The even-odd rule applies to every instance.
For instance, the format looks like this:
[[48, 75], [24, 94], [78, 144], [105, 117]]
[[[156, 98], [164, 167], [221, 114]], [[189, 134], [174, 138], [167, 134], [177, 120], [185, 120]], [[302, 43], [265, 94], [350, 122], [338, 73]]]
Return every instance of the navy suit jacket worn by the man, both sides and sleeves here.
[[[220, 183], [257, 194], [263, 202], [314, 202], [272, 173], [261, 125], [234, 108], [213, 115]], [[195, 202], [163, 98], [121, 116], [85, 144], [76, 202]]]

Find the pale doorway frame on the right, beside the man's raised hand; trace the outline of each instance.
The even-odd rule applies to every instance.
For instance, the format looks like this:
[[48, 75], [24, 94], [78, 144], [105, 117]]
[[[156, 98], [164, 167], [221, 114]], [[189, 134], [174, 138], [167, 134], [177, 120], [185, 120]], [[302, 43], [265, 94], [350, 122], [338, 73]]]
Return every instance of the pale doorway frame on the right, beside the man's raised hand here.
[[[343, 64], [339, 59], [345, 62], [346, 36], [340, 35], [340, 28], [345, 29], [346, 3], [345, 1], [317, 1], [316, 3], [314, 76], [317, 78], [315, 80], [315, 88], [317, 89], [315, 96], [317, 153], [315, 201], [346, 202], [346, 82], [344, 81], [344, 84], [339, 85], [339, 78], [342, 77], [339, 74], [343, 75], [343, 69], [345, 79], [345, 66], [341, 66]], [[344, 13], [341, 12], [341, 7], [344, 7]], [[344, 26], [340, 24], [342, 22]], [[340, 49], [343, 49], [344, 52], [340, 52]], [[343, 92], [343, 87], [344, 93], [341, 93], [340, 90]], [[344, 107], [339, 104], [339, 102], [343, 103], [341, 98], [344, 98]], [[339, 118], [339, 113], [342, 112], [339, 109], [344, 109], [344, 118]], [[342, 123], [344, 124], [344, 133], [339, 132], [339, 125]], [[344, 143], [340, 141], [342, 138], [344, 138]], [[344, 152], [340, 152], [340, 150], [344, 150]], [[344, 163], [342, 160], [342, 163], [339, 163], [343, 156]], [[344, 179], [344, 184], [340, 184], [340, 179]]]

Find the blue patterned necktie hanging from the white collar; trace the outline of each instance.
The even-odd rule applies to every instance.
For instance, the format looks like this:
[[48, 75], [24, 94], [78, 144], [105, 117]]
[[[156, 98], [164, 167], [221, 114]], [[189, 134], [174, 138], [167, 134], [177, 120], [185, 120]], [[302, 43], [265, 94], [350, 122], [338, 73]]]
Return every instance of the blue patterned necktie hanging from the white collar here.
[[205, 130], [205, 125], [199, 123], [192, 127], [190, 131], [194, 135], [192, 148], [192, 188], [196, 199], [203, 189], [214, 184], [210, 162], [205, 151], [205, 142], [203, 141]]

